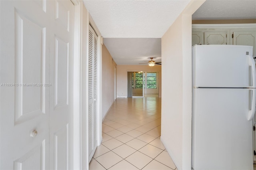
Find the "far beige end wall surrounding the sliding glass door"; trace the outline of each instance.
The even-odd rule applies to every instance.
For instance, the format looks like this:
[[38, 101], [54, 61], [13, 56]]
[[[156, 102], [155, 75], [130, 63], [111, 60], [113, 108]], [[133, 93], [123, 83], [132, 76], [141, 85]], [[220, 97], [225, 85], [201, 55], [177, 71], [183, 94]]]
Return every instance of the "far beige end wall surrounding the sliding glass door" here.
[[150, 67], [148, 65], [117, 65], [117, 89], [116, 96], [117, 97], [127, 97], [127, 72], [128, 71], [146, 71], [146, 72], [159, 72], [159, 91], [158, 95], [161, 97], [161, 65], [154, 65]]

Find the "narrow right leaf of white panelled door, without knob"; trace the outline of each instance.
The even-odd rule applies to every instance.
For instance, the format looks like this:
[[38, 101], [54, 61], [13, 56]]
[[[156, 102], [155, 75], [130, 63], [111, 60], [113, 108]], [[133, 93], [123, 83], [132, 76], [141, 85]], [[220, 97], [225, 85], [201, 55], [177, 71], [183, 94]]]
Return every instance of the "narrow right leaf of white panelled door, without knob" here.
[[50, 1], [50, 169], [72, 169], [74, 4]]

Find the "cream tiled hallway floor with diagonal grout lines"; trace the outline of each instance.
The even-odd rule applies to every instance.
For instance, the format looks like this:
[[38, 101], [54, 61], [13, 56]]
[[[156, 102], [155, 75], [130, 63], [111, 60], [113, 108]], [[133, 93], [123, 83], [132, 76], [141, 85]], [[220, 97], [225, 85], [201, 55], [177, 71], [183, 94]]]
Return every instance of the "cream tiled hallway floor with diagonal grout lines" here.
[[160, 131], [161, 98], [118, 98], [102, 123], [90, 170], [177, 170]]

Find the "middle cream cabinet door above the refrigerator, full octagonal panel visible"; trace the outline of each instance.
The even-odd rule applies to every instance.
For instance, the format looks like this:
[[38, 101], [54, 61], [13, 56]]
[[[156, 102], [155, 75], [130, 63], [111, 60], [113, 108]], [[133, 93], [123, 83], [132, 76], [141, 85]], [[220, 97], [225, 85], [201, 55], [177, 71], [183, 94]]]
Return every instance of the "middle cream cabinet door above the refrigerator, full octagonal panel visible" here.
[[226, 32], [204, 32], [204, 44], [226, 45]]

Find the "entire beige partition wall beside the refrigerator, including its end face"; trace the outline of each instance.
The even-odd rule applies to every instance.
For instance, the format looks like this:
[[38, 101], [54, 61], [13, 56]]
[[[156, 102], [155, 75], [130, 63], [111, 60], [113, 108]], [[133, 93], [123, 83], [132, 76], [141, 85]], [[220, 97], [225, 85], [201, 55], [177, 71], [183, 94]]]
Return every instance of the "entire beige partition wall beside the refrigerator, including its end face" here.
[[191, 16], [203, 2], [192, 0], [162, 37], [161, 140], [178, 170], [191, 170]]

